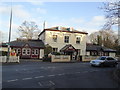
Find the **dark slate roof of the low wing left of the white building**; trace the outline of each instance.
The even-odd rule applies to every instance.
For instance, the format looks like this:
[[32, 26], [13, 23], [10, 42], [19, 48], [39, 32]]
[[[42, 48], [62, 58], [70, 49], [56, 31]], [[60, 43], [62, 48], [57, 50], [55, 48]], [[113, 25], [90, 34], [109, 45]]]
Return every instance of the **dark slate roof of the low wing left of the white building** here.
[[[12, 47], [23, 47], [26, 44], [29, 44], [30, 47], [44, 48], [42, 40], [16, 40], [10, 42], [10, 46]], [[4, 44], [2, 44], [2, 46], [4, 46]]]

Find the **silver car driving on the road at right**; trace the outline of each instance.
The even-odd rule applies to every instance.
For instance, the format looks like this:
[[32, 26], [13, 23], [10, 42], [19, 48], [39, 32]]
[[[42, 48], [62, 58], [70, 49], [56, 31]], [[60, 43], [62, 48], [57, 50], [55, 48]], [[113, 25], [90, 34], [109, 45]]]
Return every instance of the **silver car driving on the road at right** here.
[[118, 60], [110, 56], [100, 56], [96, 60], [91, 60], [91, 66], [113, 66], [118, 64]]

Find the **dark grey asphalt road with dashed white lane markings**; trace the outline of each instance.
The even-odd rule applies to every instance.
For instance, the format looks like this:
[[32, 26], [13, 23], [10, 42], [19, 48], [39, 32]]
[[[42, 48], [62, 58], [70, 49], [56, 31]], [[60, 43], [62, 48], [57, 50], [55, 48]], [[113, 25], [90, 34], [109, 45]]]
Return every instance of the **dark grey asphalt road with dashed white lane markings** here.
[[[88, 62], [39, 61], [3, 65], [3, 88], [118, 88], [115, 67], [91, 67]], [[0, 82], [1, 83], [1, 82]]]

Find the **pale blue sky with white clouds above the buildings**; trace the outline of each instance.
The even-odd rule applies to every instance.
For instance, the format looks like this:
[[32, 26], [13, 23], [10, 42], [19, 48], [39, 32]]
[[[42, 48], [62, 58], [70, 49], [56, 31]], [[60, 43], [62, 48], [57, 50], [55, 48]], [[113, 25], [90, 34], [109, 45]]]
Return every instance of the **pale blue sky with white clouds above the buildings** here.
[[19, 37], [18, 27], [24, 21], [34, 21], [40, 31], [53, 26], [73, 27], [88, 34], [104, 25], [103, 2], [0, 2], [0, 31], [3, 42], [8, 41], [10, 9], [12, 6], [11, 41]]

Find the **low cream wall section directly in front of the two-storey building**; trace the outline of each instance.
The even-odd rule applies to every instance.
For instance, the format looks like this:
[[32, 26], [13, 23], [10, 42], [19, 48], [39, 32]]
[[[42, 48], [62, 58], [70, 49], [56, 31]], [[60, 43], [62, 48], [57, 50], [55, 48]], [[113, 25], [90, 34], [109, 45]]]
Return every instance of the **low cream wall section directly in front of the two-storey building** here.
[[69, 55], [52, 55], [51, 62], [70, 62]]

